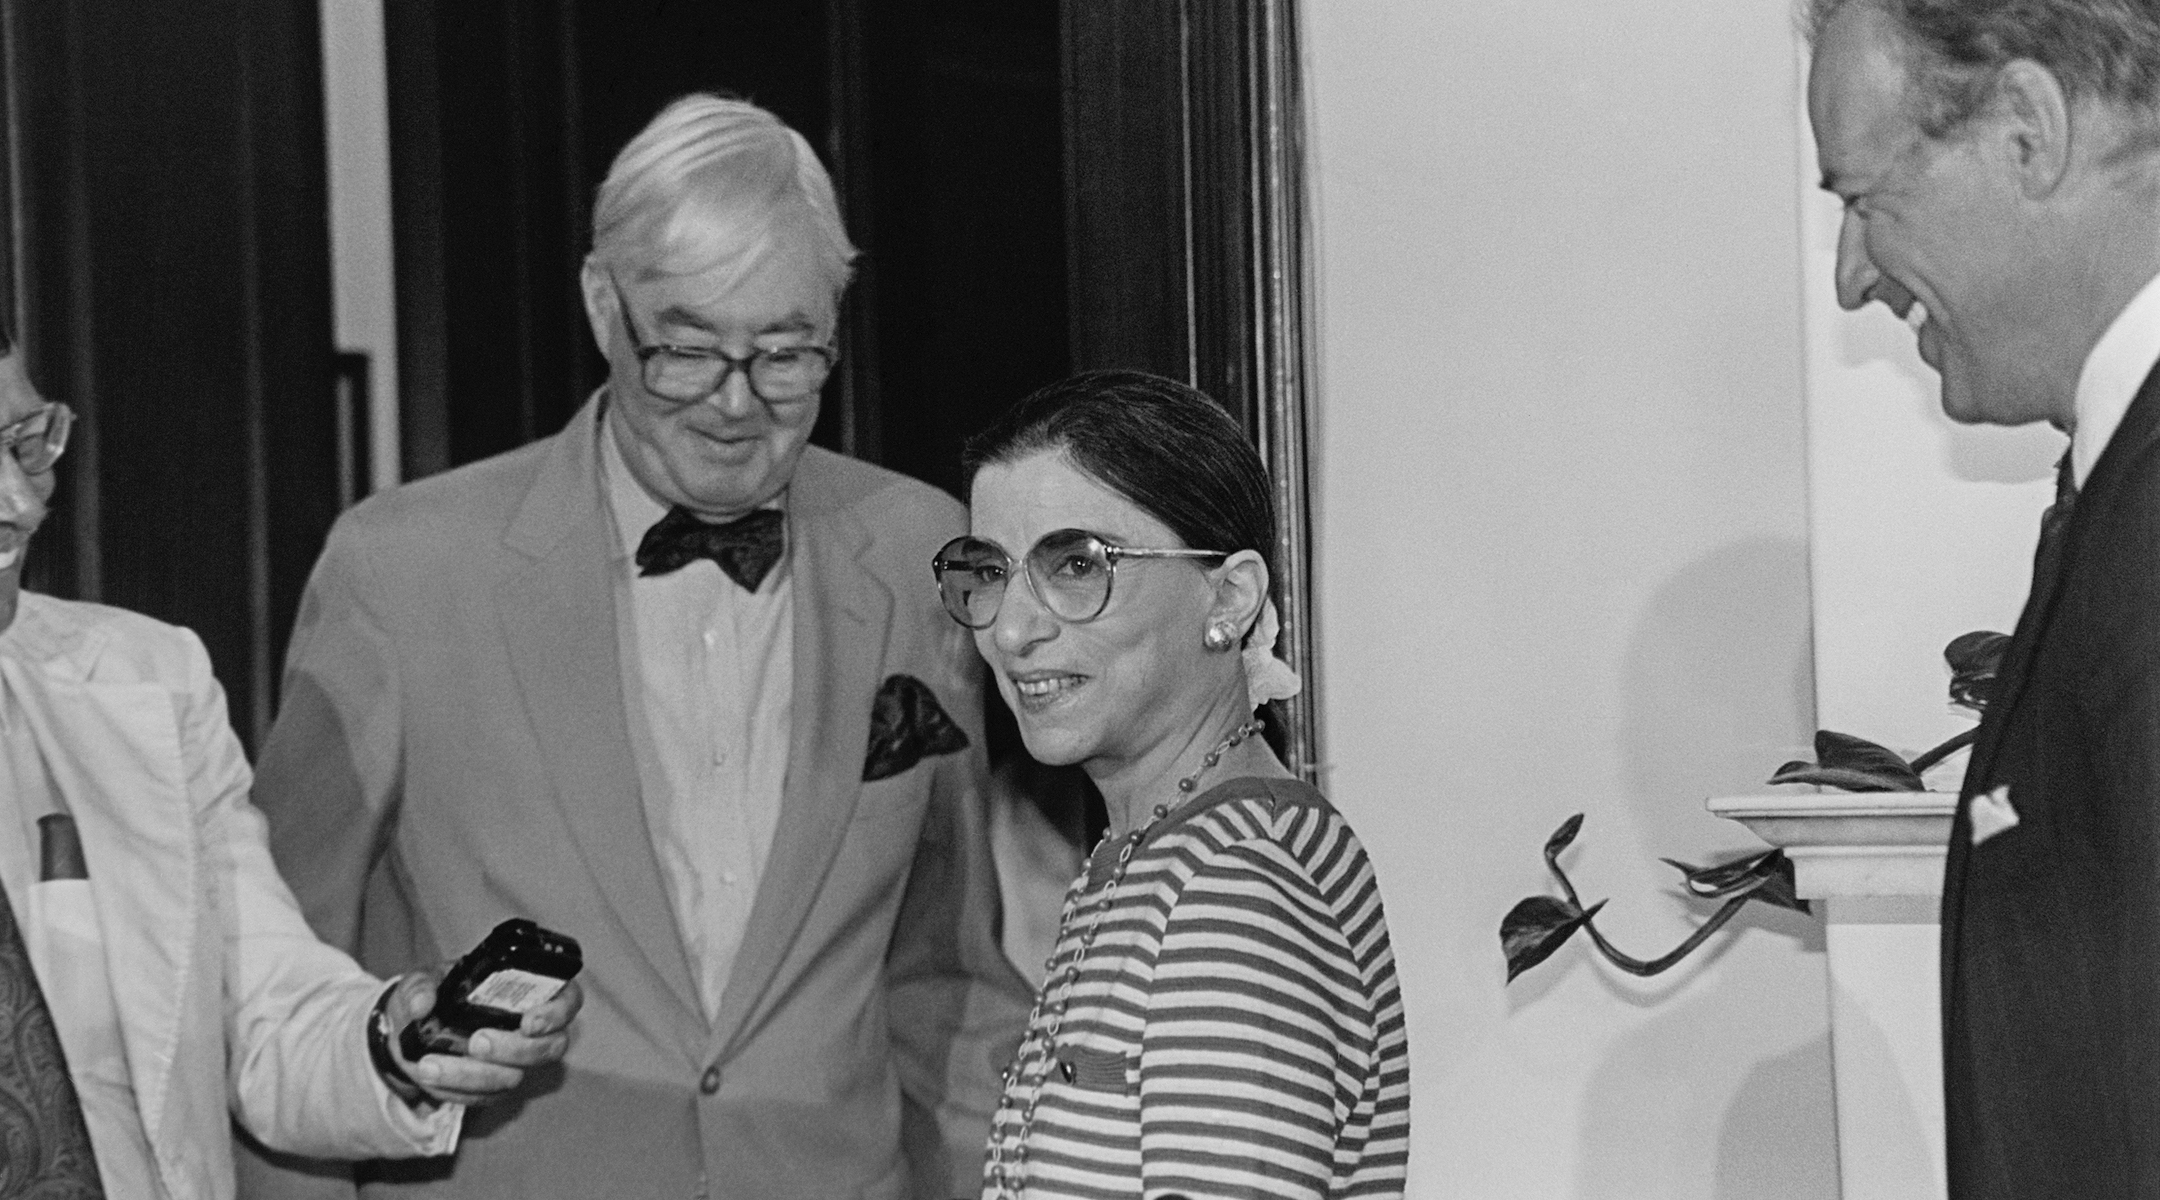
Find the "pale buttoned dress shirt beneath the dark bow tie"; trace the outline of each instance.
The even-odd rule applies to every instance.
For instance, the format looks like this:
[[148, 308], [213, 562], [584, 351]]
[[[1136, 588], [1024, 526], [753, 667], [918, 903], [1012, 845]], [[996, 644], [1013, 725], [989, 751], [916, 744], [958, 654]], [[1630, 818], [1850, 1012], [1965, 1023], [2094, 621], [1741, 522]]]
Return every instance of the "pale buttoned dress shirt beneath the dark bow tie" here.
[[[616, 628], [646, 824], [706, 1021], [773, 846], [795, 708], [788, 555], [743, 591], [711, 559], [644, 578], [637, 544], [667, 516], [600, 427], [600, 477], [620, 533]], [[775, 503], [780, 507], [780, 503]]]

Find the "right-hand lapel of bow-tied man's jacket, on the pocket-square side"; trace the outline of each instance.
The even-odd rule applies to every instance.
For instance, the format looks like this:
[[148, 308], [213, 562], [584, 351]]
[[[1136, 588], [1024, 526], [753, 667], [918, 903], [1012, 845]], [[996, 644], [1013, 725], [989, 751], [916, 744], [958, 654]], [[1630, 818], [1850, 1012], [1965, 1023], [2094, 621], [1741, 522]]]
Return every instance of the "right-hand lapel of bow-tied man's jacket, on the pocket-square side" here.
[[825, 471], [810, 451], [788, 488], [795, 729], [773, 848], [713, 1023], [719, 1049], [743, 1029], [780, 971], [862, 796], [892, 591], [864, 568], [870, 533], [834, 501]]

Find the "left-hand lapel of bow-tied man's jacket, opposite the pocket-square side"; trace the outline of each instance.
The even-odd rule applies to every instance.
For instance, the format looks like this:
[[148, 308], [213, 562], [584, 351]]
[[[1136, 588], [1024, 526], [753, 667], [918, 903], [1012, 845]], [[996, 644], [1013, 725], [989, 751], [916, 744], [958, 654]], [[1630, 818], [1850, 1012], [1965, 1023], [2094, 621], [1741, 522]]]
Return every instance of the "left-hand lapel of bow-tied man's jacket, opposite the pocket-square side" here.
[[570, 840], [622, 932], [702, 1025], [689, 956], [646, 827], [622, 704], [609, 578], [613, 529], [600, 505], [596, 427], [598, 408], [588, 404], [555, 438], [555, 453], [505, 537], [531, 563], [499, 585], [497, 611]]

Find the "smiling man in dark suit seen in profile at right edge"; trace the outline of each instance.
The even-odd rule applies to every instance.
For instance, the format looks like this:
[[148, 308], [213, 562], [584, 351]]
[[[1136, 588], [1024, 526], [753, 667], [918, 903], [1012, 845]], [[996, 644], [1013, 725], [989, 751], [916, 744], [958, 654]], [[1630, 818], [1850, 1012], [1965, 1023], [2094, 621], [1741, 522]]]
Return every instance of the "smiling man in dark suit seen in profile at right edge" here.
[[1817, 0], [1838, 300], [2071, 436], [1950, 829], [1950, 1196], [2160, 1196], [2160, 2]]

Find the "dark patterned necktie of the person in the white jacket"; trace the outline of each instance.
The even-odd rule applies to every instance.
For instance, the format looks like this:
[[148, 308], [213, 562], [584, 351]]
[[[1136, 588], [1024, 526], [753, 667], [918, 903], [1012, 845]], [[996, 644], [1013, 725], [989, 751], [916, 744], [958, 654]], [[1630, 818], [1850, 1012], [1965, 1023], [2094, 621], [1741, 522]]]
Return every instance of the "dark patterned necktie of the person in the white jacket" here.
[[0, 889], [0, 1196], [104, 1200], [60, 1032]]

